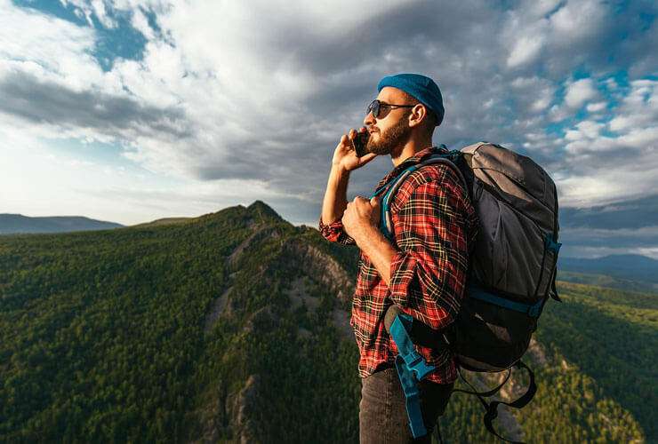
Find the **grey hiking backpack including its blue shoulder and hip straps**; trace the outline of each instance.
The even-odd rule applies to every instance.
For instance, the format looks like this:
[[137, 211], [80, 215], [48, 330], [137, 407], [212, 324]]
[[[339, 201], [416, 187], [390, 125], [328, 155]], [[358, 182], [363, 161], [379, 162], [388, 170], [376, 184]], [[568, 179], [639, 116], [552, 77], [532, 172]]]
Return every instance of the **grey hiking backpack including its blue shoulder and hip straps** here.
[[[555, 287], [558, 251], [558, 194], [548, 173], [529, 157], [499, 145], [480, 142], [461, 151], [444, 150], [401, 172], [385, 186], [381, 198], [381, 232], [393, 238], [389, 205], [405, 178], [425, 165], [445, 163], [458, 172], [479, 218], [478, 234], [469, 251], [466, 292], [458, 317], [445, 331], [436, 331], [392, 305], [385, 326], [398, 348], [396, 368], [405, 391], [406, 409], [414, 438], [427, 433], [420, 415], [417, 381], [434, 370], [413, 345], [448, 347], [458, 369], [476, 372], [507, 370], [501, 385], [474, 394], [485, 407], [485, 426], [494, 431], [497, 408], [522, 408], [532, 400], [534, 374], [520, 361], [537, 328], [543, 305]], [[383, 187], [382, 187], [383, 188]], [[375, 192], [378, 194], [380, 190]], [[526, 369], [526, 394], [512, 402], [486, 402], [510, 377], [511, 368]]]

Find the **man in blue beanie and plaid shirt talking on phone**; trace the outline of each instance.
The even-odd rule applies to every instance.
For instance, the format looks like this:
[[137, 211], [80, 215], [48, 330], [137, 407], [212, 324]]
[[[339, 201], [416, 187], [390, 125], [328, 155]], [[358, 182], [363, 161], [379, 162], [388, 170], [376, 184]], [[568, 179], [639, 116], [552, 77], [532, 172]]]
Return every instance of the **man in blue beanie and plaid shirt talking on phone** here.
[[362, 377], [359, 437], [362, 443], [430, 442], [456, 379], [447, 351], [416, 346], [437, 368], [423, 379], [421, 411], [428, 434], [417, 440], [409, 428], [395, 357], [397, 347], [384, 326], [392, 304], [433, 329], [443, 329], [459, 312], [468, 269], [469, 245], [475, 240], [477, 217], [457, 173], [444, 164], [415, 170], [397, 190], [390, 205], [393, 243], [379, 231], [380, 202], [357, 196], [347, 202], [349, 172], [377, 155], [390, 155], [394, 169], [380, 186], [440, 149], [432, 134], [444, 116], [443, 99], [429, 77], [400, 74], [384, 77], [377, 100], [368, 107], [369, 153], [358, 158], [351, 146], [356, 131], [341, 137], [320, 218], [320, 232], [332, 242], [356, 244], [361, 250], [351, 324], [360, 352]]

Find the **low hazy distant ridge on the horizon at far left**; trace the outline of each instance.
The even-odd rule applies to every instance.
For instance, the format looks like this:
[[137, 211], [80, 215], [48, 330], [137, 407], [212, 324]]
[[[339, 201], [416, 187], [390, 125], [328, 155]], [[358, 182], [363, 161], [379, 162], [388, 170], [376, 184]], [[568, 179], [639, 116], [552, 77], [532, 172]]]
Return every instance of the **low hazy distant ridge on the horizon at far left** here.
[[108, 230], [121, 224], [84, 218], [82, 216], [52, 216], [29, 218], [20, 214], [0, 214], [0, 234], [66, 233], [71, 231]]

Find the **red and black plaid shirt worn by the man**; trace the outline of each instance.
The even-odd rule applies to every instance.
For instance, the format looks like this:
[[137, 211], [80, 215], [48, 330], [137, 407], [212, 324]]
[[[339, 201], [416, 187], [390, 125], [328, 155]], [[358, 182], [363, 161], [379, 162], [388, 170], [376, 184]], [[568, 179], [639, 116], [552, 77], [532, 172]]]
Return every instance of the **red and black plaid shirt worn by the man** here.
[[[441, 148], [428, 147], [397, 165], [377, 188]], [[378, 196], [381, 196], [379, 194]], [[390, 288], [361, 252], [351, 325], [360, 351], [360, 377], [393, 366], [397, 347], [384, 327], [392, 304], [433, 329], [443, 329], [459, 313], [469, 264], [469, 246], [477, 234], [477, 216], [455, 171], [444, 164], [413, 171], [398, 188], [389, 211], [397, 250], [390, 264]], [[355, 245], [341, 220], [320, 233], [331, 242]], [[437, 368], [427, 379], [449, 384], [457, 377], [452, 354], [415, 346]]]

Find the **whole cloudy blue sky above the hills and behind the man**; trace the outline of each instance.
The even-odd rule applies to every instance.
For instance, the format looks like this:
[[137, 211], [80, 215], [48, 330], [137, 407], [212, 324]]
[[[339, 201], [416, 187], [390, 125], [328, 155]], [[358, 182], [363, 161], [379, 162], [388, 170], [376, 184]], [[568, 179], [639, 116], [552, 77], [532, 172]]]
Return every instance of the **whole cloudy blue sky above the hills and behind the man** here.
[[[132, 225], [255, 200], [317, 227], [384, 75], [432, 77], [435, 144], [528, 155], [561, 254], [658, 258], [654, 1], [0, 0], [0, 213]], [[348, 198], [393, 167], [352, 172]]]

